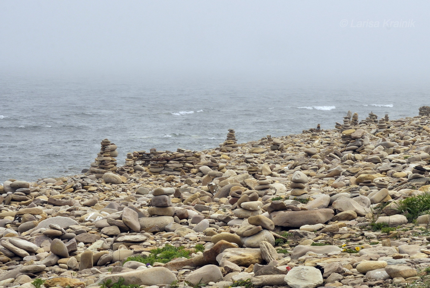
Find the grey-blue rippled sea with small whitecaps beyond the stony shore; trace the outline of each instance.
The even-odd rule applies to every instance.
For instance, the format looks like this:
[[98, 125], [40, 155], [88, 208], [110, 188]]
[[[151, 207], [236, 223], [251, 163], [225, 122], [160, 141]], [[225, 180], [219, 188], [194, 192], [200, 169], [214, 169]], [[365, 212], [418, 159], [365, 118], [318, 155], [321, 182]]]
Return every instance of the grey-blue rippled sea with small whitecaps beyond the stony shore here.
[[67, 77], [1, 77], [0, 183], [80, 173], [100, 141], [127, 152], [178, 147], [203, 150], [303, 129], [333, 128], [348, 110], [391, 119], [429, 105], [425, 87], [298, 85], [276, 81], [149, 81]]

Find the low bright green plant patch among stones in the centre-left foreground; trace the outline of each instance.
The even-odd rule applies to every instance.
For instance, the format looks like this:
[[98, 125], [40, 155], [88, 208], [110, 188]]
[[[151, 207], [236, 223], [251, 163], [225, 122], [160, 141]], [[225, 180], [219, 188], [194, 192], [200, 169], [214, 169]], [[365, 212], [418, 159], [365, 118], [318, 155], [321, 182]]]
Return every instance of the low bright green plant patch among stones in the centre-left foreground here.
[[137, 261], [145, 264], [150, 263], [151, 265], [153, 265], [154, 262], [167, 263], [173, 258], [190, 258], [190, 252], [191, 251], [189, 250], [184, 250], [184, 246], [174, 247], [172, 245], [166, 244], [166, 246], [163, 248], [151, 250], [151, 254], [148, 257], [142, 255], [130, 256], [127, 257], [124, 263], [127, 261]]

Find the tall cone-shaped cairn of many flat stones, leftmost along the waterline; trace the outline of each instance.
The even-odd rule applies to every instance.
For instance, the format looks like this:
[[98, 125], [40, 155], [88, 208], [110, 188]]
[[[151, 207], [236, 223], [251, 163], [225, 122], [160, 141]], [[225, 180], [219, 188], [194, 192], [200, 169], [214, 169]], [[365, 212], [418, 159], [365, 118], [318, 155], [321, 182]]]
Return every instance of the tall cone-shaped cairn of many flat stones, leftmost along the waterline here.
[[91, 168], [88, 170], [88, 174], [96, 174], [98, 178], [101, 178], [104, 173], [117, 171], [117, 160], [114, 157], [118, 156], [117, 146], [114, 143], [104, 139], [100, 144], [100, 152], [97, 153], [97, 158], [90, 164]]

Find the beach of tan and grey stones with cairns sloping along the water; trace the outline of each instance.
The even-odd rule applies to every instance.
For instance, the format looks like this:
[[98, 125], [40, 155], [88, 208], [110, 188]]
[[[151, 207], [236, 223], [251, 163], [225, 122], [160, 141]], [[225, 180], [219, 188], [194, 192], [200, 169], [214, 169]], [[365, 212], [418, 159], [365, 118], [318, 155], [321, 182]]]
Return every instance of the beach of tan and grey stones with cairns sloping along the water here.
[[103, 139], [80, 175], [9, 179], [0, 288], [428, 287], [430, 107], [369, 112], [125, 161]]

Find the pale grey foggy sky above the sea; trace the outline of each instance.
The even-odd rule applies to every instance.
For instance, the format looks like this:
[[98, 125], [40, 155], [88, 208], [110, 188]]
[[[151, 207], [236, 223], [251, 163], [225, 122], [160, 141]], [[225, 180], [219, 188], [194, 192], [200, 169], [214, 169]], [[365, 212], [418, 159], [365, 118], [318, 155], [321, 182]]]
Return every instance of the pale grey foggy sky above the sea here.
[[429, 31], [430, 1], [0, 0], [0, 69], [428, 81]]

